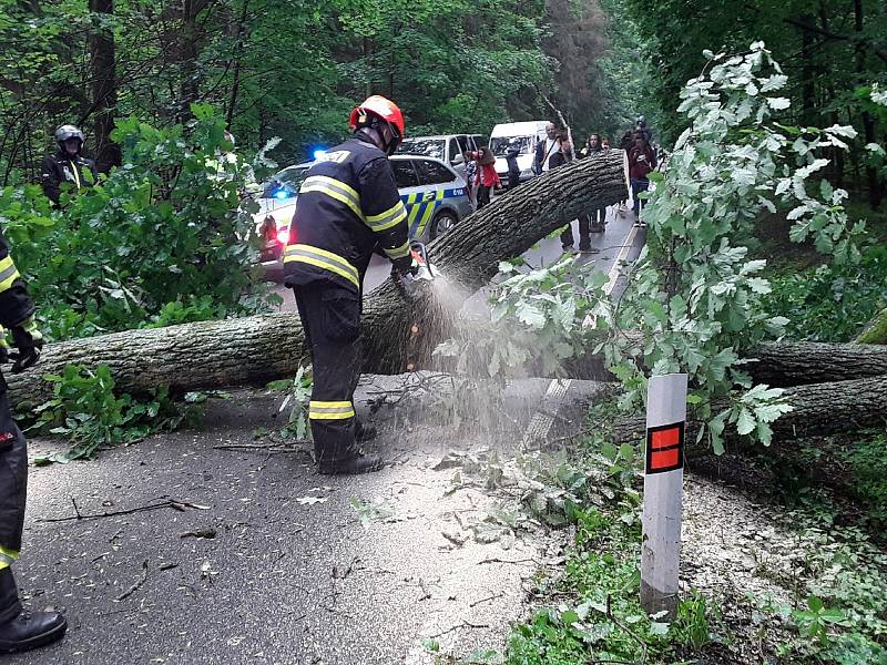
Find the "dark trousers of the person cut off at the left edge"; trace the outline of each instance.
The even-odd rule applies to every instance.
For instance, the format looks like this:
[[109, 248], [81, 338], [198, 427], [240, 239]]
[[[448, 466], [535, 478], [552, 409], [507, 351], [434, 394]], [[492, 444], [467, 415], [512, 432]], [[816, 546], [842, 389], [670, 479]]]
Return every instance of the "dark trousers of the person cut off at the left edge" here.
[[21, 612], [10, 566], [21, 550], [28, 492], [28, 443], [12, 420], [6, 381], [0, 377], [0, 624]]

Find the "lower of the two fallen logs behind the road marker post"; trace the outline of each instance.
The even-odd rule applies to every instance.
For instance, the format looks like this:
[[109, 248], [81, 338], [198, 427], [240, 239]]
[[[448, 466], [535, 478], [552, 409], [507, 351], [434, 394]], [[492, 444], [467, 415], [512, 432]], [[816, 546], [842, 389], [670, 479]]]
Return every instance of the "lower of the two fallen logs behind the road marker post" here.
[[[785, 396], [794, 410], [773, 423], [774, 441], [861, 430], [887, 422], [887, 377], [797, 386], [787, 388]], [[718, 410], [715, 405], [713, 411], [717, 413]], [[706, 439], [696, 443], [700, 427], [699, 421], [687, 422], [689, 453], [708, 448]], [[618, 441], [636, 441], [644, 437], [644, 428], [645, 422], [641, 417], [620, 420], [614, 426], [614, 438]], [[734, 450], [750, 446], [746, 440], [738, 438], [730, 438], [728, 442]]]

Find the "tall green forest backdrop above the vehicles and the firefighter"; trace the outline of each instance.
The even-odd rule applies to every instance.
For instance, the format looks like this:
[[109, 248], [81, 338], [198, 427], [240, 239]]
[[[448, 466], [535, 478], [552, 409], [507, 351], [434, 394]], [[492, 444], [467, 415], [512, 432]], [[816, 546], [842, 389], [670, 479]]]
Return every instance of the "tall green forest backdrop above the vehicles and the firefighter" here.
[[646, 72], [628, 23], [591, 0], [0, 0], [0, 184], [33, 181], [63, 122], [104, 170], [114, 119], [167, 127], [195, 102], [241, 146], [281, 136], [285, 164], [341, 137], [371, 92], [414, 135], [554, 117], [546, 100], [584, 135], [629, 122], [621, 74]]

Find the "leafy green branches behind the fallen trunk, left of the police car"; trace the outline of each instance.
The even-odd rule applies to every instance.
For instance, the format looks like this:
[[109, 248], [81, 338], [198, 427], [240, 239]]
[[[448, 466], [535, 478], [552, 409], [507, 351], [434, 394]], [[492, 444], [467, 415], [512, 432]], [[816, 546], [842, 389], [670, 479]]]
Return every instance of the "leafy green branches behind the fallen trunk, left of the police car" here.
[[[160, 130], [120, 123], [122, 167], [53, 209], [40, 187], [0, 190], [0, 215], [51, 339], [188, 320], [262, 307], [252, 270], [245, 166], [222, 119]], [[63, 194], [63, 197], [67, 197]]]

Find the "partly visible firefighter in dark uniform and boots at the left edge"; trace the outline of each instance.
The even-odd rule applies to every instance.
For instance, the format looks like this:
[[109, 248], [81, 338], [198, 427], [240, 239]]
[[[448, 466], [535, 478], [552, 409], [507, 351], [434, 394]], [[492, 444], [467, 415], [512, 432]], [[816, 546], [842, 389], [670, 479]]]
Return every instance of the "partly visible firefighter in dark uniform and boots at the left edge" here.
[[[0, 324], [12, 334], [18, 352], [10, 354], [0, 334], [0, 362], [14, 359], [12, 372], [40, 358], [43, 338], [34, 325], [34, 305], [0, 235]], [[28, 488], [28, 446], [12, 420], [7, 382], [0, 374], [0, 653], [21, 652], [61, 640], [68, 623], [58, 612], [26, 612], [12, 576], [21, 550]]]

